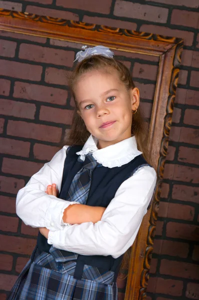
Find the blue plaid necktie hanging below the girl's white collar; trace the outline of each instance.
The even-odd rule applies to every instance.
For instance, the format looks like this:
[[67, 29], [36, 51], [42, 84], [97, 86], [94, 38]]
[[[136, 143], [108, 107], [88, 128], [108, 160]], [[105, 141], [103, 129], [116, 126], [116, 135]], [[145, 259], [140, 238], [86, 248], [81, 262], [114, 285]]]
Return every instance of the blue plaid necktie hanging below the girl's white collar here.
[[96, 166], [99, 166], [99, 163], [93, 158], [92, 154], [87, 154], [81, 169], [76, 173], [70, 184], [66, 200], [77, 201], [80, 204], [86, 203], [90, 188], [91, 174]]

